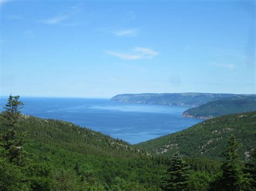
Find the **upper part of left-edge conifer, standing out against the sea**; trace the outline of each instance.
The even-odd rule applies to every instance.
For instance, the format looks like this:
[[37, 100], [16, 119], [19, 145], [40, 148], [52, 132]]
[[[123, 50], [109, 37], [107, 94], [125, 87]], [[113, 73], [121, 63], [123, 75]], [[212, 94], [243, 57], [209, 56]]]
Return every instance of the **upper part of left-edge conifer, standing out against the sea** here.
[[3, 118], [6, 119], [8, 126], [13, 127], [17, 124], [19, 117], [21, 116], [21, 109], [23, 103], [18, 101], [19, 96], [9, 96], [8, 103], [5, 105], [3, 111]]

